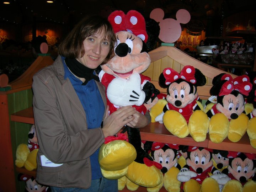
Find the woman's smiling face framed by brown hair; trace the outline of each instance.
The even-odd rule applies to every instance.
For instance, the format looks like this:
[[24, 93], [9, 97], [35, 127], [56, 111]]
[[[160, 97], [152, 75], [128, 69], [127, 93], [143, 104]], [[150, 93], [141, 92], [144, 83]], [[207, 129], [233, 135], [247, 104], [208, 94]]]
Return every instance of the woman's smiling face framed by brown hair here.
[[86, 67], [96, 69], [110, 52], [110, 41], [105, 39], [105, 31], [87, 37], [83, 44], [85, 54], [83, 57], [76, 59]]

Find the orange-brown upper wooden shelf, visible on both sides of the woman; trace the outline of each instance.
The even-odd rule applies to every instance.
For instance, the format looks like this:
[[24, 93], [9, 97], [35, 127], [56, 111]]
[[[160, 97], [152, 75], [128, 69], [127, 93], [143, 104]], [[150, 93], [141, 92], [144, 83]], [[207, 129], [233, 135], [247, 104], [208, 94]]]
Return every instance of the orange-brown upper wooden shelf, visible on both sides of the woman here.
[[[11, 120], [16, 122], [34, 124], [33, 108], [29, 107], [25, 110], [21, 110], [19, 112], [11, 114]], [[185, 138], [178, 138], [172, 135], [165, 128], [164, 124], [156, 122], [149, 123], [144, 128], [140, 128], [140, 136], [142, 140], [146, 141], [173, 143], [178, 145], [190, 145], [209, 149], [238, 151], [256, 154], [256, 149], [251, 146], [247, 133], [245, 133], [245, 135], [239, 140], [239, 142], [236, 143], [231, 142], [228, 138], [224, 139], [222, 143], [213, 143], [210, 141], [208, 134], [206, 140], [204, 140], [203, 142], [195, 142], [190, 135]]]

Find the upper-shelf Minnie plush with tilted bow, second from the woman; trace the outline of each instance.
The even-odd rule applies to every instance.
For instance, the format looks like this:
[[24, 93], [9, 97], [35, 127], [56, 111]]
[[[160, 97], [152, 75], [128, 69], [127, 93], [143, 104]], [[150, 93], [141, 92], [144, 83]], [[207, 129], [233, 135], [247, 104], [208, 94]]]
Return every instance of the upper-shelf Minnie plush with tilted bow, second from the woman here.
[[[252, 84], [247, 75], [235, 79], [221, 73], [213, 78], [210, 94], [217, 97], [217, 103], [206, 106], [210, 118], [209, 136], [214, 143], [222, 142], [226, 137], [238, 142], [246, 132], [248, 117], [245, 114], [245, 97], [249, 95]], [[207, 111], [208, 110], [208, 111]]]

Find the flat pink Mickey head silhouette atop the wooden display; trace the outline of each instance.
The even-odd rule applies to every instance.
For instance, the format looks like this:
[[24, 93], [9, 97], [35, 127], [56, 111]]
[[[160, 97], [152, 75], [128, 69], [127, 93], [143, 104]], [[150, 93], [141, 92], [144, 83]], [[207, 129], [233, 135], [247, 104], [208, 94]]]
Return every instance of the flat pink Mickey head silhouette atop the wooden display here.
[[180, 38], [181, 26], [180, 23], [186, 24], [190, 21], [190, 13], [185, 9], [180, 9], [176, 13], [176, 18], [164, 18], [164, 11], [160, 8], [154, 9], [150, 13], [150, 18], [156, 22], [160, 22], [159, 39], [165, 43], [173, 43]]

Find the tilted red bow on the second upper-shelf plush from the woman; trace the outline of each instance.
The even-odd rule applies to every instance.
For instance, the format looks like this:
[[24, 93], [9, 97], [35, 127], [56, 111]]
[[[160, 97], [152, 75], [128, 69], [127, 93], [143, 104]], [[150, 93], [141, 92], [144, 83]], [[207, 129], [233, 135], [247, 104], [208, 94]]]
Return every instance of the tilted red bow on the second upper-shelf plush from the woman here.
[[228, 95], [233, 90], [239, 91], [241, 94], [248, 96], [252, 89], [252, 84], [247, 75], [241, 75], [233, 79], [231, 75], [225, 74], [221, 80], [227, 80], [220, 89], [219, 96]]

